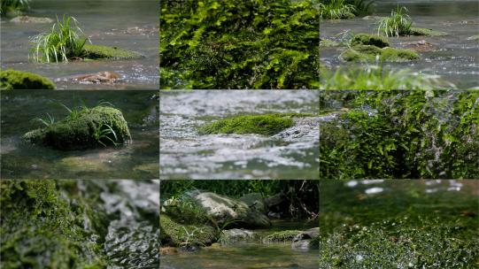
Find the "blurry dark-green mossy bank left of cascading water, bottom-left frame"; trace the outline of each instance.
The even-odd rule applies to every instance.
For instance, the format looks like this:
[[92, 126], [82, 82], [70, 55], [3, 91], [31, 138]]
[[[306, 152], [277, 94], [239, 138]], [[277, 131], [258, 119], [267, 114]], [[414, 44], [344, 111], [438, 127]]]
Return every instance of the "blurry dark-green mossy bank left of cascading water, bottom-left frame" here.
[[[0, 181], [0, 267], [105, 268], [102, 247], [90, 237], [98, 234], [93, 227], [101, 226], [99, 219], [87, 219], [94, 214], [86, 201], [69, 200], [59, 191], [60, 186], [74, 184]], [[84, 227], [87, 221], [91, 225]]]

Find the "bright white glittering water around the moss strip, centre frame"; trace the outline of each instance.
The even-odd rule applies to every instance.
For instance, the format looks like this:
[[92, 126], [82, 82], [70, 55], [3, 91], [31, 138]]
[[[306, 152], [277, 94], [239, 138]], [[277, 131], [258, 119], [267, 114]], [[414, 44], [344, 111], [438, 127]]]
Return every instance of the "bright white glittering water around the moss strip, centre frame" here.
[[162, 179], [317, 179], [319, 119], [273, 136], [197, 135], [197, 128], [240, 114], [318, 113], [317, 91], [161, 93]]

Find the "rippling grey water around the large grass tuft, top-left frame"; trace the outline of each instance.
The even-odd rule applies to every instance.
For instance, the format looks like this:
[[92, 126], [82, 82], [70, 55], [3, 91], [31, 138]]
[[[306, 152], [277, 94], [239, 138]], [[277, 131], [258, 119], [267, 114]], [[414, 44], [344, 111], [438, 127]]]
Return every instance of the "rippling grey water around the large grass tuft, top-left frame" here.
[[[56, 20], [73, 16], [93, 44], [116, 46], [142, 53], [133, 60], [73, 61], [60, 64], [37, 64], [28, 60], [32, 47], [29, 38], [50, 30], [52, 24], [15, 23], [2, 18], [2, 69], [12, 68], [38, 73], [57, 83], [57, 88], [159, 88], [158, 10], [155, 0], [35, 0], [32, 17]], [[79, 84], [73, 76], [97, 72], [120, 74], [112, 85]]]

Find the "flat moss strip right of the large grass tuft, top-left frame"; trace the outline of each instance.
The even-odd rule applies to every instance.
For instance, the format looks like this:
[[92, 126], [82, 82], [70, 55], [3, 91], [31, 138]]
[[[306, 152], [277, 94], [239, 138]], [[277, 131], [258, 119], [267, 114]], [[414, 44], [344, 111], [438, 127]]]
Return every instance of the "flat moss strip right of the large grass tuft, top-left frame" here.
[[89, 59], [133, 59], [143, 58], [144, 56], [138, 52], [131, 50], [123, 50], [117, 47], [101, 46], [85, 44], [84, 58]]

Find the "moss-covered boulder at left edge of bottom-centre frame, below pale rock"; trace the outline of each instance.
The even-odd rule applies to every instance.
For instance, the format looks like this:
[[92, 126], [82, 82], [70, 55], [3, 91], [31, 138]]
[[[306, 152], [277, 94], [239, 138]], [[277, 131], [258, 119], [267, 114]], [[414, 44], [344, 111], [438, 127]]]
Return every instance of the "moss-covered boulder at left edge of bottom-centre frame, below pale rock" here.
[[211, 245], [216, 232], [206, 225], [182, 225], [166, 214], [159, 218], [159, 240], [162, 246]]

